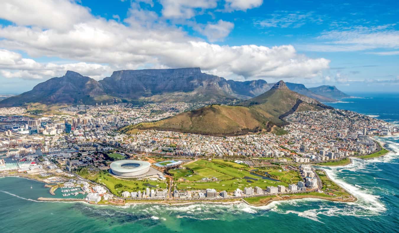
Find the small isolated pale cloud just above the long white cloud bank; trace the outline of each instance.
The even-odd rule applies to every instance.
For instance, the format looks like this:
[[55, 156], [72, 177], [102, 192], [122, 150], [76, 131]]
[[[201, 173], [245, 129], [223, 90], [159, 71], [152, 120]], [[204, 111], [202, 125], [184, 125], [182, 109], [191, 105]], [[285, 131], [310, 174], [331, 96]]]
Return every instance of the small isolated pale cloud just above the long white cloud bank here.
[[217, 23], [208, 23], [204, 28], [200, 28], [198, 31], [205, 35], [210, 42], [223, 41], [227, 37], [231, 30], [234, 28], [234, 23], [219, 20]]

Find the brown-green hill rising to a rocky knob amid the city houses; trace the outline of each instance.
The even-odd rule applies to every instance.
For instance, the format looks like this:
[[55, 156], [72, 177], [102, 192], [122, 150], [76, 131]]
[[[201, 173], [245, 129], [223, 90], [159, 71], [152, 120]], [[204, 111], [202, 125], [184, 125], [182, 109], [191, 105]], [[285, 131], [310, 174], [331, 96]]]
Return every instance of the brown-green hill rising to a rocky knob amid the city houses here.
[[243, 135], [286, 125], [283, 117], [294, 112], [324, 108], [331, 107], [289, 90], [280, 81], [267, 92], [236, 106], [210, 105], [160, 121], [130, 125], [122, 128], [121, 132], [156, 129], [215, 136]]

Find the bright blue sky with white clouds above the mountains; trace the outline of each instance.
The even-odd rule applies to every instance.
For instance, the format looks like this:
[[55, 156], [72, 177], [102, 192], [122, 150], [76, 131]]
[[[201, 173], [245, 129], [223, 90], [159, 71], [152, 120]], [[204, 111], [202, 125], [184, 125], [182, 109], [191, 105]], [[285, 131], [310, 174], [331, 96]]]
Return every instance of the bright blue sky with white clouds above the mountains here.
[[200, 67], [226, 79], [399, 92], [399, 2], [2, 0], [0, 94], [67, 70]]

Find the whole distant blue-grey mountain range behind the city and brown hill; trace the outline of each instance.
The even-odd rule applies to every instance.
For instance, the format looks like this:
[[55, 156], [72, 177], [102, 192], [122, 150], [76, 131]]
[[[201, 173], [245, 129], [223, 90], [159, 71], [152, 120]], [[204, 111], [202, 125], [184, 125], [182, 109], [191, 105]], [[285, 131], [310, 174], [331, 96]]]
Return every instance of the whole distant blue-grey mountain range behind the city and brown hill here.
[[[0, 107], [29, 104], [72, 105], [148, 102], [227, 103], [248, 100], [270, 90], [273, 83], [265, 80], [233, 81], [201, 72], [199, 68], [119, 70], [96, 81], [73, 71], [50, 78], [33, 90], [0, 101]], [[348, 95], [335, 86], [306, 88], [287, 83], [291, 90], [322, 102]]]

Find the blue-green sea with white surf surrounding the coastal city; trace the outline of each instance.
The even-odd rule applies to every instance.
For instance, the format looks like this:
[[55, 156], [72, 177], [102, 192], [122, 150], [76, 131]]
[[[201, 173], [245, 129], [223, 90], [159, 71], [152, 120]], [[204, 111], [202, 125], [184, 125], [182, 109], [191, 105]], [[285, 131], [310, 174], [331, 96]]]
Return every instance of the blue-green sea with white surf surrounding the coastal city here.
[[[352, 95], [358, 98], [330, 105], [399, 122], [399, 94]], [[41, 202], [38, 197], [53, 197], [43, 183], [4, 177], [0, 232], [399, 232], [399, 137], [378, 140], [391, 151], [384, 157], [323, 168], [358, 198], [353, 203], [301, 199], [262, 207], [243, 203], [116, 207]]]

